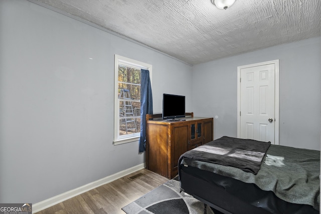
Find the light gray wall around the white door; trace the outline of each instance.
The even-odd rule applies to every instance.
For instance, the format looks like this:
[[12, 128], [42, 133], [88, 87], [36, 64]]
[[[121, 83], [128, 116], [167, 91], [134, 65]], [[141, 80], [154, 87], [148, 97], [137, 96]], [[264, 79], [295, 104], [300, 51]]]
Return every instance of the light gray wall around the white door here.
[[279, 144], [320, 149], [320, 38], [193, 67], [193, 111], [214, 119], [214, 138], [237, 136], [237, 67], [279, 59]]

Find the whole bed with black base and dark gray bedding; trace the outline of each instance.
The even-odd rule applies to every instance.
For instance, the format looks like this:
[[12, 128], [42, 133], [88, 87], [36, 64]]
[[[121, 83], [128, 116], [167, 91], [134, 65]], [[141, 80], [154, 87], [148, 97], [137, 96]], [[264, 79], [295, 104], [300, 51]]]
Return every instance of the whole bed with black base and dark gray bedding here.
[[224, 136], [179, 159], [181, 190], [215, 213], [319, 213], [320, 152]]

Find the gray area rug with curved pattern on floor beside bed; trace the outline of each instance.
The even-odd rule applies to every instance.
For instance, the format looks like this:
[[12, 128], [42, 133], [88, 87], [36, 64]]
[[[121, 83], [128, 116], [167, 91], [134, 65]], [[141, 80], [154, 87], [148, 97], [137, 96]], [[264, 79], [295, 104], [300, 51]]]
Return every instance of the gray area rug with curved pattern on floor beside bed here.
[[[204, 203], [185, 192], [180, 193], [180, 182], [169, 180], [121, 209], [127, 214], [201, 214]], [[207, 213], [214, 214], [209, 206]]]

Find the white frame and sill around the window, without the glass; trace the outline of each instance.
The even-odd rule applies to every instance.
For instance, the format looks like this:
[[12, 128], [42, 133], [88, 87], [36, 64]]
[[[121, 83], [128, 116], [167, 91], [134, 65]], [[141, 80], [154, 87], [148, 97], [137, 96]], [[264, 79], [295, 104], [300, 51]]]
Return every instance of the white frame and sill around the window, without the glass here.
[[129, 143], [139, 140], [140, 138], [140, 132], [134, 133], [134, 134], [127, 134], [119, 136], [119, 102], [118, 102], [118, 65], [125, 65], [128, 67], [136, 68], [136, 69], [145, 69], [149, 70], [149, 78], [150, 78], [150, 84], [151, 84], [151, 71], [152, 66], [139, 62], [137, 60], [132, 60], [126, 57], [119, 56], [115, 54], [115, 70], [114, 70], [114, 145], [123, 144], [123, 143]]

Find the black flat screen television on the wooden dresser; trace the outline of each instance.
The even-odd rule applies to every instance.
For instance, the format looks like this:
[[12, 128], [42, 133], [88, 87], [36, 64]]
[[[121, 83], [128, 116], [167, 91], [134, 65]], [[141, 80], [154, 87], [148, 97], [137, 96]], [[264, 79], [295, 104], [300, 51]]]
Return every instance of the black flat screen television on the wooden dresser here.
[[163, 94], [163, 119], [185, 117], [185, 96]]

